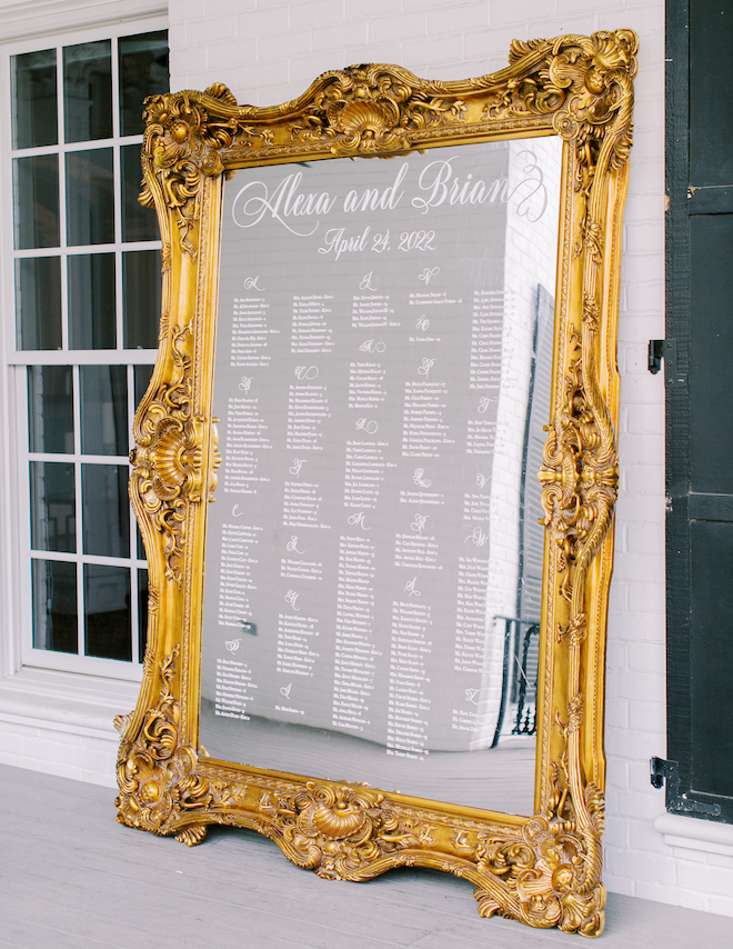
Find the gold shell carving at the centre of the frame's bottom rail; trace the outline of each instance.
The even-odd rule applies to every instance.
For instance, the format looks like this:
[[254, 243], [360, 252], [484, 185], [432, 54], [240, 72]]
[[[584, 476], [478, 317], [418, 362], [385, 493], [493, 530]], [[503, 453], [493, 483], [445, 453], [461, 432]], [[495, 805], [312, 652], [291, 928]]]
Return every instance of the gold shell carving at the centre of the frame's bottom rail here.
[[380, 858], [423, 846], [414, 828], [383, 801], [379, 791], [308, 781], [294, 795], [265, 792], [259, 810], [294, 863], [321, 877], [357, 880], [379, 872], [374, 863]]

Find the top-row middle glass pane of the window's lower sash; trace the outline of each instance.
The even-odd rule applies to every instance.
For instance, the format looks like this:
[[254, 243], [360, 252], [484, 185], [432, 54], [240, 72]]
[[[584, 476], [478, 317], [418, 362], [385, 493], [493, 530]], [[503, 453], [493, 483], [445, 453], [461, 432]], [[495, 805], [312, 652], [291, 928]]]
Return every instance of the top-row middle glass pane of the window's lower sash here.
[[[127, 454], [128, 382], [124, 366], [80, 366], [81, 450]], [[127, 557], [127, 553], [124, 555]]]

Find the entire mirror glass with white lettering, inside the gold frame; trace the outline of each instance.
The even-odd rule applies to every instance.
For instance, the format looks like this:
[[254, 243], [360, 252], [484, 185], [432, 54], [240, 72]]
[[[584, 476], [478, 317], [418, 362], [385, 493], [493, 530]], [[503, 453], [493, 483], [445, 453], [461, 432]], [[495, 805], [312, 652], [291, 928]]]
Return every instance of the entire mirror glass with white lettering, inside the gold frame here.
[[562, 142], [224, 187], [200, 743], [532, 813]]

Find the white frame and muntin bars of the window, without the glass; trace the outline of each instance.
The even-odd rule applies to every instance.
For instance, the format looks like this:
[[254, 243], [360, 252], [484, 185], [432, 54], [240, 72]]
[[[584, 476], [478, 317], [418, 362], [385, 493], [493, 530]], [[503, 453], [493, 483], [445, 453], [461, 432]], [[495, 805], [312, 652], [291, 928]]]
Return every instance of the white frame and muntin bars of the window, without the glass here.
[[[46, 6], [46, 4], [43, 4]], [[61, 4], [59, 4], [61, 6]], [[48, 31], [41, 33], [34, 30], [32, 37], [26, 37], [14, 41], [7, 42], [0, 47], [0, 123], [2, 124], [1, 140], [2, 154], [0, 156], [0, 169], [2, 174], [3, 188], [0, 194], [0, 306], [3, 311], [3, 327], [0, 333], [0, 444], [6, 447], [6, 450], [0, 452], [0, 637], [2, 639], [2, 649], [0, 655], [0, 676], [13, 676], [21, 670], [58, 670], [60, 672], [77, 673], [73, 678], [73, 691], [78, 693], [79, 682], [87, 677], [103, 677], [104, 679], [117, 679], [137, 682], [141, 678], [140, 660], [142, 657], [137, 656], [137, 589], [131, 587], [131, 636], [133, 642], [133, 661], [123, 662], [112, 659], [99, 659], [94, 657], [84, 657], [83, 655], [70, 655], [54, 652], [50, 650], [36, 649], [32, 646], [32, 601], [31, 601], [31, 558], [30, 558], [30, 490], [28, 477], [28, 426], [27, 426], [27, 367], [32, 364], [63, 364], [63, 366], [92, 366], [92, 364], [120, 364], [128, 368], [128, 418], [129, 426], [132, 424], [133, 416], [133, 369], [135, 364], [152, 364], [155, 358], [155, 350], [124, 350], [121, 348], [122, 342], [122, 299], [121, 299], [121, 280], [118, 279], [117, 286], [117, 321], [118, 336], [116, 350], [60, 350], [60, 351], [19, 351], [16, 348], [16, 303], [14, 303], [14, 259], [22, 256], [38, 256], [30, 252], [26, 254], [23, 251], [14, 251], [13, 249], [13, 199], [12, 199], [12, 116], [11, 116], [11, 86], [10, 86], [10, 64], [11, 57], [33, 52], [36, 50], [51, 49], [56, 47], [59, 50], [57, 68], [58, 81], [61, 82], [61, 63], [60, 50], [66, 46], [74, 46], [77, 43], [92, 42], [96, 40], [111, 39], [114, 43], [119, 37], [133, 36], [137, 33], [152, 32], [155, 30], [167, 29], [167, 17], [144, 16], [144, 9], [140, 9], [145, 4], [140, 2], [125, 2], [122, 0], [119, 4], [119, 10], [132, 16], [118, 17], [113, 22], [103, 23], [101, 16], [94, 16], [102, 10], [104, 18], [110, 16], [111, 4], [103, 3], [99, 8], [90, 8], [86, 6], [79, 9], [78, 4], [70, 3], [69, 14], [58, 12], [52, 18], [46, 18]], [[48, 9], [48, 8], [47, 8]], [[158, 13], [160, 6], [153, 8]], [[143, 16], [141, 16], [141, 13]], [[27, 8], [27, 20], [33, 19], [32, 4]], [[40, 13], [39, 13], [40, 16]], [[69, 20], [73, 20], [80, 16], [88, 18], [88, 22], [94, 23], [86, 28], [69, 30]], [[2, 14], [0, 13], [0, 21]], [[56, 19], [58, 23], [52, 22]], [[58, 29], [53, 29], [58, 26]], [[66, 27], [66, 29], [64, 29]], [[117, 62], [113, 54], [113, 62]], [[117, 104], [117, 67], [113, 66], [113, 101]], [[113, 109], [113, 132], [112, 139], [102, 139], [94, 141], [94, 148], [106, 148], [119, 146], [122, 141], [125, 144], [132, 144], [142, 141], [142, 136], [124, 137], [119, 136], [119, 111]], [[63, 143], [63, 137], [59, 137], [57, 147], [41, 147], [38, 149], [23, 149], [22, 154], [42, 154], [54, 152], [62, 156], [64, 152], [79, 150], [80, 148], [89, 148], [89, 142], [80, 143]], [[18, 152], [20, 154], [20, 152]], [[64, 214], [64, 190], [63, 190], [63, 161], [60, 162], [60, 192], [61, 206], [60, 216], [63, 222]], [[114, 151], [114, 172], [116, 179], [120, 180], [119, 168], [119, 150]], [[120, 201], [116, 201], [116, 237], [121, 238], [120, 229], [121, 207]], [[94, 252], [110, 251], [114, 252], [118, 258], [117, 272], [121, 273], [119, 257], [122, 251], [133, 250], [152, 250], [160, 248], [160, 241], [151, 242], [124, 242], [117, 240], [113, 244], [96, 244], [93, 248], [73, 248], [74, 253], [83, 253], [84, 251], [93, 250]], [[59, 251], [57, 251], [59, 253]], [[56, 256], [56, 254], [54, 254]], [[60, 256], [66, 257], [66, 249], [61, 248]], [[63, 268], [62, 268], [63, 272]], [[66, 301], [66, 278], [62, 277], [62, 326], [63, 326], [63, 346], [67, 340], [67, 301]], [[74, 388], [78, 396], [78, 369], [73, 370]], [[81, 458], [80, 451], [80, 429], [79, 429], [79, 400], [76, 399], [74, 407], [74, 454], [73, 456], [48, 456], [47, 460], [54, 461], [74, 461], [78, 462]], [[33, 454], [33, 458], [43, 460], [46, 456]], [[89, 456], [83, 457], [84, 461], [102, 462], [106, 464], [127, 463], [127, 458], [117, 458], [104, 456], [94, 459]], [[77, 489], [79, 493], [79, 488]], [[77, 497], [77, 521], [80, 521], [80, 498]], [[134, 536], [135, 526], [134, 518], [130, 520], [131, 535], [131, 551], [134, 552]], [[87, 563], [113, 563], [114, 566], [137, 565], [144, 567], [144, 561], [139, 561], [137, 558], [132, 560], [118, 559], [110, 560], [104, 557], [92, 557], [82, 555], [81, 547], [77, 545], [76, 555], [52, 555], [52, 559], [81, 559]], [[38, 552], [34, 555], [38, 557]], [[132, 575], [135, 576], [134, 573]], [[80, 602], [81, 608], [81, 602]], [[81, 678], [80, 675], [81, 673]], [[41, 673], [42, 675], [42, 673]], [[47, 677], [48, 678], [48, 677]], [[56, 677], [58, 680], [58, 677]], [[90, 685], [91, 685], [91, 680]]]

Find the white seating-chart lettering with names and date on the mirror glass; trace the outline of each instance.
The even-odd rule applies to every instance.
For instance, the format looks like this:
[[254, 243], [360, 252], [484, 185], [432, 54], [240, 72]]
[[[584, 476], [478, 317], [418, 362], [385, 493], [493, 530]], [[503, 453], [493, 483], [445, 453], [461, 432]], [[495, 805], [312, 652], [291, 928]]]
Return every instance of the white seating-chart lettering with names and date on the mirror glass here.
[[494, 625], [506, 220], [546, 202], [532, 151], [520, 177], [508, 163], [493, 143], [360, 162], [358, 187], [339, 161], [228, 182], [204, 743], [237, 719], [414, 759], [470, 747]]

